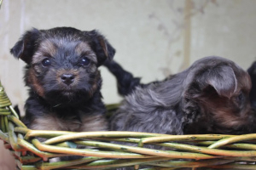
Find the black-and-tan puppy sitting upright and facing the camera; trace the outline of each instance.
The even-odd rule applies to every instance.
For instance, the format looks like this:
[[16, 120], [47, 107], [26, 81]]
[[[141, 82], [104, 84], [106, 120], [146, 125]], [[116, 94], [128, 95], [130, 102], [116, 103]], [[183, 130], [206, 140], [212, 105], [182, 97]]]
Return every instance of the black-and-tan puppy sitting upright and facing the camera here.
[[32, 29], [10, 52], [26, 62], [27, 127], [76, 132], [108, 129], [97, 68], [113, 59], [115, 50], [99, 32]]

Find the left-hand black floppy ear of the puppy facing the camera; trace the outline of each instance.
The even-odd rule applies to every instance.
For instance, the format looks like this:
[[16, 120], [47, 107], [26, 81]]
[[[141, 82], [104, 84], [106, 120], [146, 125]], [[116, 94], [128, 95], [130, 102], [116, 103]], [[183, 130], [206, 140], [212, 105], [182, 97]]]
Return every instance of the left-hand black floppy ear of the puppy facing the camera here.
[[20, 37], [20, 40], [15, 43], [15, 46], [10, 49], [10, 53], [17, 59], [24, 60], [27, 64], [31, 62], [32, 55], [36, 48], [40, 31], [33, 28]]

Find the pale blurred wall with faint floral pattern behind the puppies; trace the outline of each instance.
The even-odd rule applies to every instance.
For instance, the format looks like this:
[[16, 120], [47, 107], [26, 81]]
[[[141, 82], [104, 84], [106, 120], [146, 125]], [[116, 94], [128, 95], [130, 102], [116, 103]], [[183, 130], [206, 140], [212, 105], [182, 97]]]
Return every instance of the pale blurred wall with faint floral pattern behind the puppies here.
[[[22, 111], [27, 97], [24, 63], [9, 48], [32, 27], [56, 26], [101, 31], [117, 50], [114, 59], [143, 82], [161, 80], [208, 55], [247, 69], [256, 56], [255, 7], [254, 0], [3, 0], [0, 79]], [[101, 70], [104, 102], [119, 102], [114, 78]], [[15, 169], [2, 141], [0, 169]]]

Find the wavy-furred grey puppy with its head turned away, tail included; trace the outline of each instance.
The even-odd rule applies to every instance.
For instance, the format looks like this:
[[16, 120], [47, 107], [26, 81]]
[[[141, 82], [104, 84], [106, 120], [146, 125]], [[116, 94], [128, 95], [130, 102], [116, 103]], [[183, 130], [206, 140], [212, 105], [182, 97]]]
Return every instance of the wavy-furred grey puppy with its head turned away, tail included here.
[[[106, 66], [111, 71], [117, 65], [108, 62]], [[123, 69], [115, 71], [115, 76], [120, 71], [125, 77]], [[146, 85], [130, 78], [128, 94], [111, 118], [111, 130], [167, 134], [255, 131], [250, 77], [229, 59], [199, 59], [185, 71]]]

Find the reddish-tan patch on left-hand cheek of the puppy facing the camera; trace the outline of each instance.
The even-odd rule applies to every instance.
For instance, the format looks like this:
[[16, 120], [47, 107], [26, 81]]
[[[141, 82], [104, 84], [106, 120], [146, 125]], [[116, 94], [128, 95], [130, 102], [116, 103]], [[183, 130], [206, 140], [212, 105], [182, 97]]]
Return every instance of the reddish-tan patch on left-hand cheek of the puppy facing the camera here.
[[42, 97], [44, 97], [44, 88], [38, 82], [38, 78], [35, 75], [35, 71], [30, 69], [28, 71], [28, 82], [32, 85], [32, 88], [36, 91], [36, 93]]

